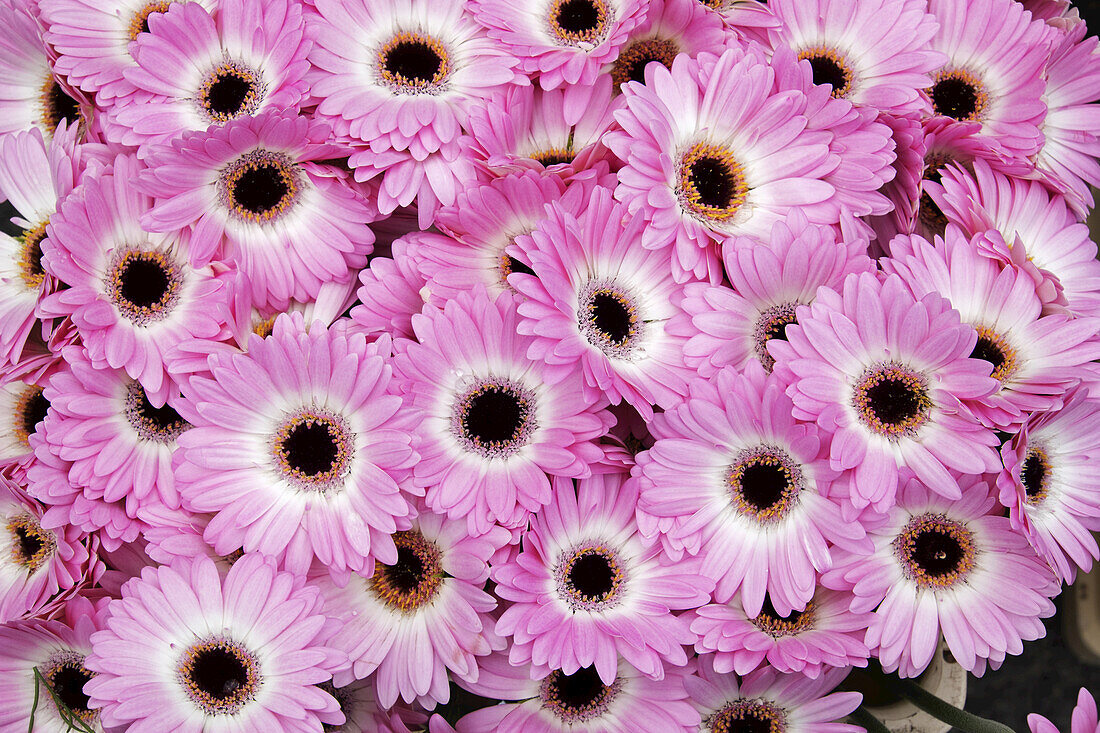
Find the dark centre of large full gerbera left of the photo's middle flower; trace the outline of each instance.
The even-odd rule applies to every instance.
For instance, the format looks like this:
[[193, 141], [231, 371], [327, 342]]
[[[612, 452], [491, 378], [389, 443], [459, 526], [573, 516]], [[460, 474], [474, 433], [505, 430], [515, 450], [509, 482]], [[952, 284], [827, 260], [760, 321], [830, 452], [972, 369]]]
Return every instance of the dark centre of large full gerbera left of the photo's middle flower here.
[[351, 451], [346, 428], [331, 415], [306, 411], [275, 433], [275, 463], [301, 488], [332, 488], [346, 472]]

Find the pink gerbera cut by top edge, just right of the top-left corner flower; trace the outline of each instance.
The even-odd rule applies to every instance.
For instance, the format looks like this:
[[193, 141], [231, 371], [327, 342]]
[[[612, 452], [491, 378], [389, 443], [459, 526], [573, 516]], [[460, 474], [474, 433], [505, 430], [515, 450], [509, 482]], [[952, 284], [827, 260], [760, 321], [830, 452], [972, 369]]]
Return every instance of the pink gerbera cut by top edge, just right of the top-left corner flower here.
[[[122, 80], [134, 66], [130, 43], [148, 32], [148, 18], [174, 2], [198, 2], [213, 10], [216, 0], [41, 0], [45, 37], [57, 51], [54, 69], [66, 80], [96, 95], [100, 106], [132, 91]], [[232, 12], [232, 11], [231, 11]]]

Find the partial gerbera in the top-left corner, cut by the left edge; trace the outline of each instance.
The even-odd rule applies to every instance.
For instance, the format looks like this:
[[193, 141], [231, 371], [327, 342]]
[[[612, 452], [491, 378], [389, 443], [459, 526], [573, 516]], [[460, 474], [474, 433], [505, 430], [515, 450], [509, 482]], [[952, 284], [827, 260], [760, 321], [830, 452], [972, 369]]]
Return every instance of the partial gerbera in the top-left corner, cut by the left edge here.
[[54, 74], [55, 56], [42, 39], [42, 25], [32, 6], [0, 1], [0, 133], [38, 128], [45, 136], [61, 122], [88, 129], [91, 101]]

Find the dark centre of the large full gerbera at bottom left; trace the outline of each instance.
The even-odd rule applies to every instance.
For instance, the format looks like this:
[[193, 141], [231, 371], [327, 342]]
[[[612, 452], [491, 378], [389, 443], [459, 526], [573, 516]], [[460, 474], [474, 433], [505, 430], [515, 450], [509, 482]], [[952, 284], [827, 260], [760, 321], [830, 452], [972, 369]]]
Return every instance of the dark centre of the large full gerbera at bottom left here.
[[232, 714], [260, 687], [255, 657], [235, 642], [211, 639], [184, 654], [178, 679], [188, 697], [207, 714]]

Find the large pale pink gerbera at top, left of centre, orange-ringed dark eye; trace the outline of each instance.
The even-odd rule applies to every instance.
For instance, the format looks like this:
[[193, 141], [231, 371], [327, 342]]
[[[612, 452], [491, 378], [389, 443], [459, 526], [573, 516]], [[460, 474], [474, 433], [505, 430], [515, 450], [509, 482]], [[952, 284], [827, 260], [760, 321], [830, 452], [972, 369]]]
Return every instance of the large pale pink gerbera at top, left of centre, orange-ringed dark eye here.
[[[527, 83], [460, 0], [317, 0], [310, 95], [339, 135], [417, 161], [453, 147], [470, 103]], [[453, 157], [453, 155], [449, 155]], [[450, 203], [450, 201], [447, 201]]]

